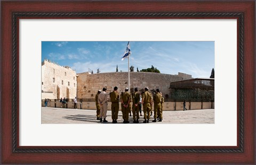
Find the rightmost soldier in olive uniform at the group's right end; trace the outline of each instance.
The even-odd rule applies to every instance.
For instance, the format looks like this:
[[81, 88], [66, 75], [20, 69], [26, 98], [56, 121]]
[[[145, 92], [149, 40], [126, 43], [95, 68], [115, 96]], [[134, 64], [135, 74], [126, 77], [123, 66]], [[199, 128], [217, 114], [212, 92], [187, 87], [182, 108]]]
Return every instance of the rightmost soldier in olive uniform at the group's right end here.
[[156, 94], [154, 95], [154, 120], [152, 122], [156, 122], [157, 114], [159, 114], [159, 121], [162, 121], [162, 112], [161, 112], [161, 100], [162, 95], [159, 93], [159, 89], [156, 89]]

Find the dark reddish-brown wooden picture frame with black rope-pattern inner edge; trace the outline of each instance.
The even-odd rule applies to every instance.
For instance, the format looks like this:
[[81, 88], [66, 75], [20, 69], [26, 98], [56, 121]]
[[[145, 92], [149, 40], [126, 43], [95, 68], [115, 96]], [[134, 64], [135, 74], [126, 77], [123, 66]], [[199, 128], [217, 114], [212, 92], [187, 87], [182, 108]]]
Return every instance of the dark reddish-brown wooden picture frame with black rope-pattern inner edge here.
[[[255, 1], [3, 1], [1, 14], [1, 163], [255, 164]], [[237, 19], [237, 146], [19, 146], [24, 18]]]

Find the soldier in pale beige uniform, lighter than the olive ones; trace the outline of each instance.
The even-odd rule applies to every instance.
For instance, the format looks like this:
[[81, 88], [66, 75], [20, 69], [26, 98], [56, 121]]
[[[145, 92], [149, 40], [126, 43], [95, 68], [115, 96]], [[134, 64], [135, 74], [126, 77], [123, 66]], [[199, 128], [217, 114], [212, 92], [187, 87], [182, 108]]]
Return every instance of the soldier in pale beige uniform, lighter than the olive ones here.
[[108, 99], [108, 93], [106, 93], [107, 88], [103, 88], [102, 92], [99, 94], [98, 97], [98, 102], [100, 104], [100, 122], [102, 122], [102, 117], [103, 119], [103, 123], [108, 122], [106, 120], [107, 117], [107, 108], [108, 108], [108, 103], [107, 103], [107, 99]]

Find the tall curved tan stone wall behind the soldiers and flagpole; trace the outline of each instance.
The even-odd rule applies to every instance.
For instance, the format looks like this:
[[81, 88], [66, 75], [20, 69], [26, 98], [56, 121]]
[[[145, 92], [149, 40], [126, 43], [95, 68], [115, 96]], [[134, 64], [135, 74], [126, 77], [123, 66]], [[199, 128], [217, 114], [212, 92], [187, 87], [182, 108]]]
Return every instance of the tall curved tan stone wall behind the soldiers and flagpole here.
[[[186, 74], [179, 76], [149, 72], [130, 72], [130, 90], [132, 92], [136, 87], [142, 90], [147, 86], [149, 91], [159, 89], [163, 95], [169, 94], [170, 82], [185, 80], [184, 75]], [[115, 86], [118, 87], [119, 93], [124, 92], [124, 89], [128, 87], [128, 72], [78, 73], [77, 97], [85, 99], [95, 98], [98, 90], [107, 87], [107, 93], [109, 93], [113, 91]]]

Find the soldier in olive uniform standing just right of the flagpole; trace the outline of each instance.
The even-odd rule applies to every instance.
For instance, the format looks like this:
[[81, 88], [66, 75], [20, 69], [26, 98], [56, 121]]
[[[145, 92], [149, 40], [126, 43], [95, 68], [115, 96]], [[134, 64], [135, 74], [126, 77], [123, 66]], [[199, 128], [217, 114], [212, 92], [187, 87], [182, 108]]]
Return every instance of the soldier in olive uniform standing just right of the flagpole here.
[[[134, 93], [132, 93], [132, 115], [133, 115], [133, 123], [139, 123], [139, 102], [140, 102], [140, 93], [138, 93], [138, 88], [134, 89]], [[137, 119], [137, 120], [136, 120]]]

